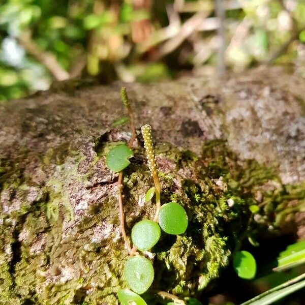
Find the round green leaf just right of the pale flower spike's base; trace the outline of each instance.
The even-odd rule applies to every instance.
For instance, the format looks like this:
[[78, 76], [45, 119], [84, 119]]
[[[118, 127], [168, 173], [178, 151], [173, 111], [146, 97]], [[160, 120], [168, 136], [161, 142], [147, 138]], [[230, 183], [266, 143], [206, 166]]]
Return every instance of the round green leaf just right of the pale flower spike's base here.
[[159, 212], [159, 225], [168, 234], [182, 234], [188, 227], [186, 210], [176, 202], [163, 204]]

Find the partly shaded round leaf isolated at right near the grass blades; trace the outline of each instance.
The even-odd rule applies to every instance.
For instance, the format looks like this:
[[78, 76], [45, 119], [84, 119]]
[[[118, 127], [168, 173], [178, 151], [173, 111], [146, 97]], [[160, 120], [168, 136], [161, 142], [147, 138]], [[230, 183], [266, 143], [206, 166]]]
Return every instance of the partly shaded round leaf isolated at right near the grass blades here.
[[238, 277], [245, 280], [252, 280], [256, 273], [256, 261], [248, 251], [240, 251], [234, 255], [233, 268]]

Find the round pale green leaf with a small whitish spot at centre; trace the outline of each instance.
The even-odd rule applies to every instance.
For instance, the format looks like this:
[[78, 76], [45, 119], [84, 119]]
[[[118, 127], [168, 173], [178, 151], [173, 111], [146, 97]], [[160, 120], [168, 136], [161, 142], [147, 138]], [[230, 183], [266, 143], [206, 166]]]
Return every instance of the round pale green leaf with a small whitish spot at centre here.
[[150, 260], [141, 255], [130, 257], [124, 266], [124, 276], [130, 288], [144, 293], [154, 281], [154, 267]]

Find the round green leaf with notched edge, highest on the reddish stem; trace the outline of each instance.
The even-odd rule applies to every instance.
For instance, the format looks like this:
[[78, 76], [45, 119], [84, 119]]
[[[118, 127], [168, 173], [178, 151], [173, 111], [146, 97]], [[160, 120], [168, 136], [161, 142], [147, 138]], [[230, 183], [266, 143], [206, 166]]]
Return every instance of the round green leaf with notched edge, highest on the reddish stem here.
[[106, 164], [114, 172], [119, 172], [130, 164], [129, 159], [132, 156], [133, 152], [127, 145], [117, 145], [107, 154]]

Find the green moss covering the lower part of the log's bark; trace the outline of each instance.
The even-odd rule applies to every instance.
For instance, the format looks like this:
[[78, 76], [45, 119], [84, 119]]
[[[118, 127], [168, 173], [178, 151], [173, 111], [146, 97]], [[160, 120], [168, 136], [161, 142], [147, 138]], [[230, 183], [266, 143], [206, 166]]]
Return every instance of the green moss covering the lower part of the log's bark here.
[[[98, 146], [104, 152], [109, 145]], [[169, 144], [159, 146], [163, 158], [174, 161], [179, 170], [179, 174], [160, 173], [161, 200], [184, 206], [189, 226], [181, 236], [162, 235], [154, 247], [152, 288], [179, 296], [200, 295], [220, 277], [242, 241], [265, 234], [270, 226], [273, 232], [280, 230], [287, 215], [305, 208], [305, 185], [283, 186], [274, 169], [255, 161], [241, 162], [223, 141], [205, 143], [201, 156]], [[153, 181], [143, 153], [136, 150], [125, 170], [129, 236], [137, 221], [155, 213], [154, 204], [144, 200]], [[8, 301], [115, 305], [117, 290], [127, 287], [122, 271], [128, 253], [119, 237], [117, 198], [105, 195], [75, 224], [67, 181], [85, 187], [89, 174], [78, 170], [85, 157], [71, 154], [71, 149], [69, 156], [54, 150], [46, 153], [42, 164], [45, 170], [56, 164], [56, 174], [50, 175], [44, 187], [24, 176], [19, 165], [7, 160], [0, 164], [0, 195], [9, 190], [26, 198], [30, 187], [39, 194], [35, 202], [24, 201], [22, 208], [0, 218], [1, 305]], [[252, 204], [260, 207], [256, 220], [249, 210]], [[63, 232], [67, 222], [72, 227], [68, 235]], [[103, 226], [111, 228], [108, 235], [95, 238], [95, 230]]]

